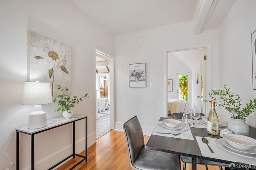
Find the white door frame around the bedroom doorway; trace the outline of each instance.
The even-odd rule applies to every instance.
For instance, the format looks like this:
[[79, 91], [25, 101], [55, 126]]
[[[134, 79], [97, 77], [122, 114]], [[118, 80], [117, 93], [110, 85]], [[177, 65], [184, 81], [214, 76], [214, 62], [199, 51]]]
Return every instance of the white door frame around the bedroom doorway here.
[[[168, 109], [167, 109], [167, 79], [168, 79], [168, 53], [176, 52], [176, 51], [186, 51], [186, 50], [194, 50], [194, 49], [202, 49], [205, 48], [207, 52], [207, 60], [206, 60], [206, 94], [211, 92], [212, 89], [212, 44], [201, 44], [201, 45], [191, 45], [191, 46], [183, 46], [183, 47], [174, 47], [164, 50], [164, 108], [166, 117], [168, 116]], [[206, 111], [210, 110], [210, 104], [206, 103]]]

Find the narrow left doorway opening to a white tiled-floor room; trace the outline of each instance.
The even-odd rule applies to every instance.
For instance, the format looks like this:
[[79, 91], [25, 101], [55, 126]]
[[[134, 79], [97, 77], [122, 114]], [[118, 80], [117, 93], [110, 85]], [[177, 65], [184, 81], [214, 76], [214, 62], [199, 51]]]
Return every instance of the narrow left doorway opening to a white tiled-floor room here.
[[96, 138], [114, 129], [114, 58], [96, 49]]

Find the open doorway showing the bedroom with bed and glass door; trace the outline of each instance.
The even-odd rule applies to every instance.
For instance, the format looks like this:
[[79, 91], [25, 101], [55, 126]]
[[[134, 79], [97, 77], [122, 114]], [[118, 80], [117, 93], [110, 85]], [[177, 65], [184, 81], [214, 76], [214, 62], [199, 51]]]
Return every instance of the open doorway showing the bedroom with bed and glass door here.
[[167, 52], [167, 79], [172, 80], [173, 89], [167, 91], [168, 115], [189, 113], [192, 108], [206, 114], [205, 102], [202, 103], [206, 94], [202, 93], [206, 90], [206, 49], [195, 47]]

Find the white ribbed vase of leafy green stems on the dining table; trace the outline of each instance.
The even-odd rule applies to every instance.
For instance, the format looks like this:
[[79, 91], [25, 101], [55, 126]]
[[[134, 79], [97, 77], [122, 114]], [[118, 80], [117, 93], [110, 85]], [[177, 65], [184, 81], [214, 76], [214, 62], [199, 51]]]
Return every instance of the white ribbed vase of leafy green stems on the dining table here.
[[[216, 106], [226, 109], [231, 115], [231, 121], [228, 123], [228, 129], [235, 134], [249, 134], [249, 126], [245, 123], [246, 117], [254, 113], [256, 109], [256, 98], [250, 100], [250, 103], [246, 103], [246, 107], [241, 108], [239, 95], [227, 88], [224, 85], [224, 89], [214, 89], [212, 93], [209, 93], [211, 99], [215, 102]], [[207, 100], [205, 100], [207, 101]], [[210, 101], [207, 101], [210, 102]]]

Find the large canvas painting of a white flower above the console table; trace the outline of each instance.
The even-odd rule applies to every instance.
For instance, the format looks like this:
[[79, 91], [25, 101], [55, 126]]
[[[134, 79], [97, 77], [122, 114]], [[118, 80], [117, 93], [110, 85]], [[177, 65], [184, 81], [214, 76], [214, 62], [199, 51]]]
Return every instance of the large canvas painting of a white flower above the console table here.
[[60, 84], [71, 89], [71, 46], [29, 30], [28, 80], [50, 83], [53, 96]]

